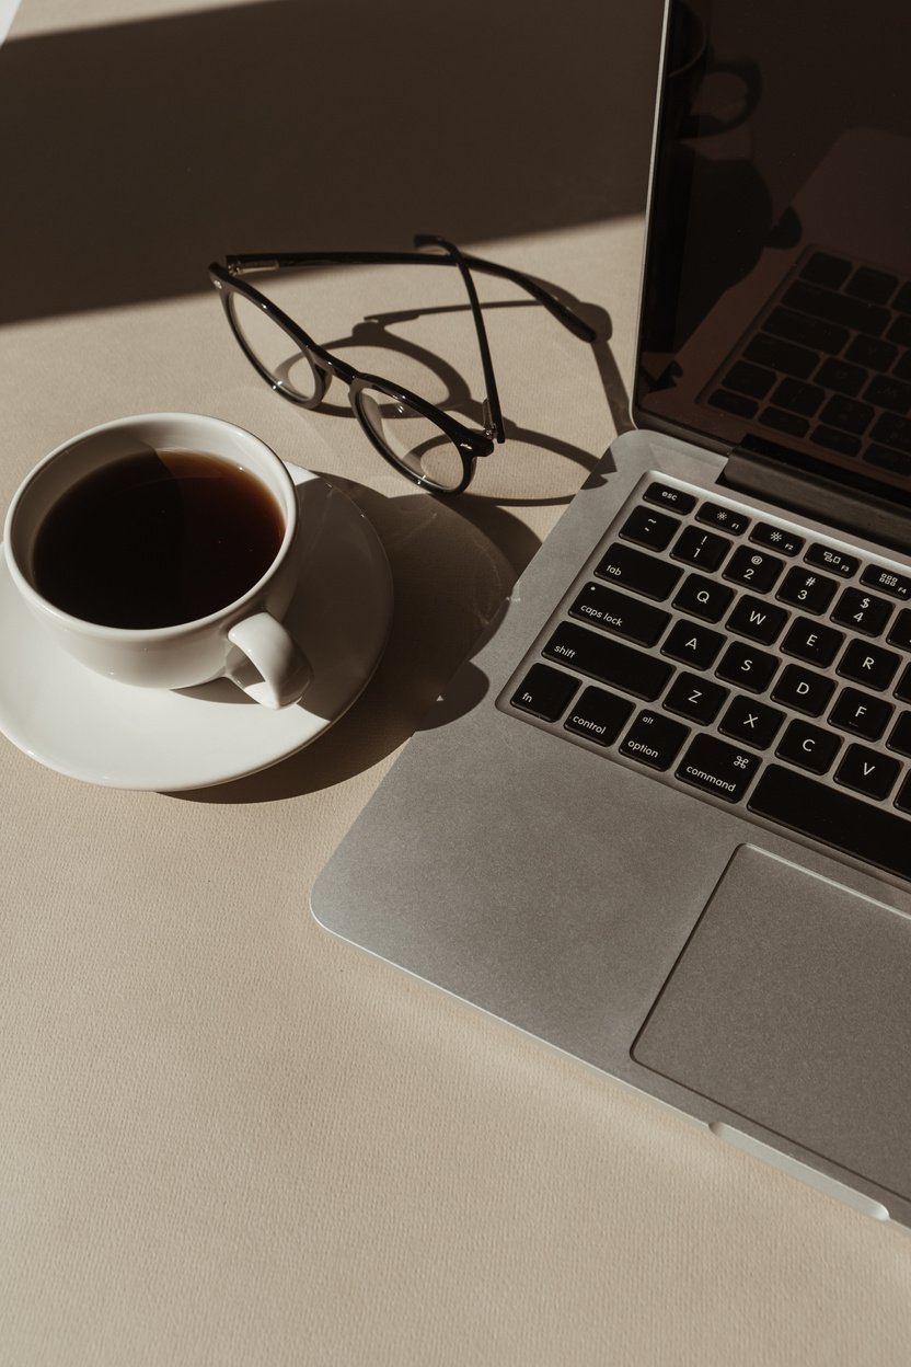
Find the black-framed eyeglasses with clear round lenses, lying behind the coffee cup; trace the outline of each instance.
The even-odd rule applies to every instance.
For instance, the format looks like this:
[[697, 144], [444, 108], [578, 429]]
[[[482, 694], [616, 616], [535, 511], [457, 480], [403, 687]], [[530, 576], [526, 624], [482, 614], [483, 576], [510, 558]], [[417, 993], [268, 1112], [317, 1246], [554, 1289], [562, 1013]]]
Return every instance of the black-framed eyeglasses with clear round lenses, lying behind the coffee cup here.
[[[231, 329], [255, 370], [276, 394], [313, 409], [333, 379], [348, 387], [348, 399], [367, 437], [391, 465], [415, 484], [434, 493], [462, 493], [474, 476], [479, 458], [493, 454], [504, 442], [503, 414], [490, 361], [490, 347], [473, 271], [511, 280], [544, 305], [583, 342], [597, 334], [561, 299], [520, 271], [494, 265], [460, 252], [444, 238], [419, 234], [417, 249], [434, 252], [290, 252], [272, 256], [229, 256], [225, 265], [213, 262], [209, 279], [221, 294]], [[294, 319], [244, 279], [265, 271], [296, 271], [317, 265], [447, 265], [455, 267], [464, 283], [481, 351], [483, 383], [483, 429], [466, 427], [444, 409], [429, 403], [378, 375], [366, 375], [332, 355], [307, 336]]]

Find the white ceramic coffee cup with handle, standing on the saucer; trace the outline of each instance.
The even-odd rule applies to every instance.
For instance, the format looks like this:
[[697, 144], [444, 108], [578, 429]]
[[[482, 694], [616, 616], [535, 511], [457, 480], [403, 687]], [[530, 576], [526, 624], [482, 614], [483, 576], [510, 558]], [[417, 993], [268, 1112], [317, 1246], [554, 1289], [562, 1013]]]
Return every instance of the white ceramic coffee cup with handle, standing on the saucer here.
[[[199, 452], [239, 466], [260, 481], [284, 524], [272, 563], [234, 601], [175, 626], [104, 626], [63, 611], [36, 585], [36, 541], [48, 514], [81, 480], [148, 451]], [[46, 455], [14, 495], [3, 550], [30, 611], [87, 668], [122, 684], [158, 689], [190, 688], [227, 675], [257, 703], [276, 708], [296, 703], [311, 678], [300, 645], [281, 625], [298, 586], [296, 537], [294, 481], [258, 437], [220, 418], [150, 413], [102, 422]]]

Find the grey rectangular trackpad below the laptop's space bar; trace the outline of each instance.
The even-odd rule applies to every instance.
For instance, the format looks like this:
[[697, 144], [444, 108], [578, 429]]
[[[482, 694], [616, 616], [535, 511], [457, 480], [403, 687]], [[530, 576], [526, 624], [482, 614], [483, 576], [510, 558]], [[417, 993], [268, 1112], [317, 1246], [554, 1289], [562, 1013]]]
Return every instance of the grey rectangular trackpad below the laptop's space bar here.
[[632, 1055], [911, 1197], [910, 1001], [911, 919], [742, 846]]

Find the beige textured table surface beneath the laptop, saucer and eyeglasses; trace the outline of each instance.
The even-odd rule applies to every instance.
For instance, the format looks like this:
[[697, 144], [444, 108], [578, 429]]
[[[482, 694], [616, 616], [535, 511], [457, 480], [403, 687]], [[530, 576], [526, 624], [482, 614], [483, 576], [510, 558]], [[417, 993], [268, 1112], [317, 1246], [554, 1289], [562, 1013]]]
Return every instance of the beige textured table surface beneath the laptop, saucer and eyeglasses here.
[[[628, 421], [657, 19], [631, 0], [25, 0], [0, 49], [3, 506], [94, 422], [213, 413], [350, 492], [397, 593], [362, 699], [258, 776], [120, 791], [0, 740], [4, 1367], [911, 1362], [901, 1232], [307, 908]], [[205, 276], [229, 250], [421, 228], [613, 327], [590, 349], [538, 309], [488, 310], [512, 440], [458, 506], [387, 470], [343, 395], [328, 414], [272, 395]], [[326, 342], [380, 314], [363, 360], [477, 401], [458, 290], [429, 275], [333, 272], [285, 298]], [[419, 349], [453, 370], [418, 376]]]

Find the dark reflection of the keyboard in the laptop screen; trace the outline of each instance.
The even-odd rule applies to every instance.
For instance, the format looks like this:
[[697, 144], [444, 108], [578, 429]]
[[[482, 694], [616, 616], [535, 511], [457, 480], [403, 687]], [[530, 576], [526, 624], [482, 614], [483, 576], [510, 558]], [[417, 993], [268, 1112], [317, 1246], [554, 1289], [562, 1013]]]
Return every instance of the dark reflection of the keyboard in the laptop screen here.
[[811, 252], [706, 402], [911, 474], [911, 280]]

